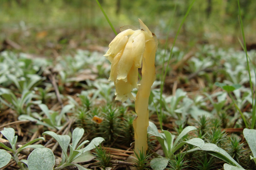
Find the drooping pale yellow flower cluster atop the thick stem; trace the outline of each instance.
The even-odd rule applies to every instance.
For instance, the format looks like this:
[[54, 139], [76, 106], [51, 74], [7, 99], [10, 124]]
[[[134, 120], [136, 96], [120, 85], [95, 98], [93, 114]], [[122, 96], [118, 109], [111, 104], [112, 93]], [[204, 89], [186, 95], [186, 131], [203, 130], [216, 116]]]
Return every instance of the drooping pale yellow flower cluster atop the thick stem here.
[[148, 51], [154, 50], [151, 52], [155, 53], [157, 48], [154, 34], [140, 19], [139, 22], [141, 29], [127, 29], [119, 33], [109, 44], [109, 50], [104, 55], [111, 62], [109, 80], [113, 81], [116, 87], [115, 99], [122, 102], [128, 98], [136, 100], [131, 91], [138, 88], [138, 68], [141, 68], [142, 60], [148, 56]]

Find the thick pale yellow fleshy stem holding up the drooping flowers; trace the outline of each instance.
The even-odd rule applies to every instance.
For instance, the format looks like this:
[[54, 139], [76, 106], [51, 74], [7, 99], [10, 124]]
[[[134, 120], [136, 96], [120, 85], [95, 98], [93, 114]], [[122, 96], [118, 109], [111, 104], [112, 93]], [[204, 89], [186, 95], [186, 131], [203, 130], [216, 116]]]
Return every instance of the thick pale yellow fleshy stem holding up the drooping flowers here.
[[[142, 79], [138, 88], [135, 100], [135, 112], [137, 117], [133, 122], [135, 146], [134, 151], [139, 154], [147, 150], [147, 127], [148, 127], [148, 99], [151, 86], [155, 81], [155, 51], [156, 44], [154, 40], [148, 41], [145, 47], [142, 66]], [[153, 47], [153, 48], [152, 48]]]

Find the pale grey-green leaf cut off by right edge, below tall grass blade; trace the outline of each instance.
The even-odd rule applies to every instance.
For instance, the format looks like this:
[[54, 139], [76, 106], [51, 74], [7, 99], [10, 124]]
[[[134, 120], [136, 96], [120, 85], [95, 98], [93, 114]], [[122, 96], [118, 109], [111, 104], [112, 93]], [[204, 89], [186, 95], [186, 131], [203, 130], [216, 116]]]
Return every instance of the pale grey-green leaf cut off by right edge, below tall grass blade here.
[[253, 157], [256, 157], [256, 129], [243, 129], [243, 135], [246, 139]]

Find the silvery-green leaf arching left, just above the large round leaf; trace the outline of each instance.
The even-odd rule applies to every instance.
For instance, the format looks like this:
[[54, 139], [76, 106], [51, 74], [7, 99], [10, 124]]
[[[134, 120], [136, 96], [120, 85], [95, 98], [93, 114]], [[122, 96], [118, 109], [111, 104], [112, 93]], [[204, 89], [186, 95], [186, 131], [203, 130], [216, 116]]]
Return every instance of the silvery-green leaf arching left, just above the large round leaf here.
[[68, 159], [67, 150], [70, 143], [70, 137], [68, 135], [57, 135], [55, 132], [51, 131], [46, 131], [42, 133], [42, 135], [50, 135], [53, 137], [59, 143], [62, 153], [65, 155], [66, 159]]

